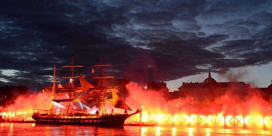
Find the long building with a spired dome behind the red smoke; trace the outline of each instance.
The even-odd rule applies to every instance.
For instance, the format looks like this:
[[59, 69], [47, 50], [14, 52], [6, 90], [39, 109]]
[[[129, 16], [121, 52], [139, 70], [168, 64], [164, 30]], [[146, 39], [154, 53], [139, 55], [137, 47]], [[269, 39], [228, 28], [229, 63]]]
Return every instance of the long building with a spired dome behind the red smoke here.
[[182, 83], [178, 88], [179, 98], [191, 101], [192, 105], [222, 104], [222, 97], [238, 96], [248, 99], [256, 95], [268, 103], [272, 103], [272, 84], [267, 88], [251, 88], [244, 82], [217, 82], [209, 76], [202, 83]]

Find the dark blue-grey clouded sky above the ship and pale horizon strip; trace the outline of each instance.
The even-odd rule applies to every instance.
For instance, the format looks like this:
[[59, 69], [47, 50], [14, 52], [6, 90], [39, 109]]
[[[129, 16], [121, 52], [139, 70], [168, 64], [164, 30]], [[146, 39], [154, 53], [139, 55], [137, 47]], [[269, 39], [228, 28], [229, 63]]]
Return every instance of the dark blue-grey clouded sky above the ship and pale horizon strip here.
[[[0, 86], [48, 85], [56, 63], [133, 81], [169, 81], [272, 60], [272, 1], [5, 1]], [[111, 70], [111, 71], [110, 71]], [[96, 70], [97, 73], [97, 70]]]

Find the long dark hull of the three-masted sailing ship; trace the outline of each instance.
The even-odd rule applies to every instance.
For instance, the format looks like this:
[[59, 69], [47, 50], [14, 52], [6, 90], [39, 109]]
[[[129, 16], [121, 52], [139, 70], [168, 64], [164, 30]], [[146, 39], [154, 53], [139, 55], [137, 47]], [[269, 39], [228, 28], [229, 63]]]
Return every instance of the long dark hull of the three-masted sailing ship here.
[[86, 118], [75, 116], [71, 118], [49, 117], [33, 115], [32, 118], [37, 124], [57, 124], [57, 125], [90, 125], [90, 126], [123, 126], [125, 120], [130, 117], [128, 114], [123, 115], [108, 115], [98, 118]]

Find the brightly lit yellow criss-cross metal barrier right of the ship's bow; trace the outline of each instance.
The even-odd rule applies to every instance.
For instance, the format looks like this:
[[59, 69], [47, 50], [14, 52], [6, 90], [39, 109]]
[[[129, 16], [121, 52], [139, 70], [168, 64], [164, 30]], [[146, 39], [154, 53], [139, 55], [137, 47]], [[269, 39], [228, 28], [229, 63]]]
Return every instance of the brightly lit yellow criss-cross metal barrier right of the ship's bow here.
[[[141, 117], [141, 118], [140, 118]], [[186, 115], [186, 114], [154, 114], [141, 112], [125, 121], [125, 124], [140, 125], [172, 125], [172, 126], [205, 126], [205, 127], [243, 127], [264, 128], [272, 130], [272, 116], [250, 115]]]

